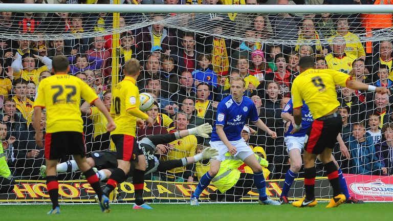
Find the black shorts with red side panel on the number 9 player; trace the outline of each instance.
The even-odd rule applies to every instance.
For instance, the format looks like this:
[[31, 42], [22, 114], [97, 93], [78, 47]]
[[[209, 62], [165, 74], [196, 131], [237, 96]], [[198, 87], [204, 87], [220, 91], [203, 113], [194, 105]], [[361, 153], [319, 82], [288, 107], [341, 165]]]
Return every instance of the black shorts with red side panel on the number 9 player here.
[[341, 129], [341, 115], [337, 112], [314, 120], [307, 131], [305, 151], [320, 154], [325, 148], [333, 149]]

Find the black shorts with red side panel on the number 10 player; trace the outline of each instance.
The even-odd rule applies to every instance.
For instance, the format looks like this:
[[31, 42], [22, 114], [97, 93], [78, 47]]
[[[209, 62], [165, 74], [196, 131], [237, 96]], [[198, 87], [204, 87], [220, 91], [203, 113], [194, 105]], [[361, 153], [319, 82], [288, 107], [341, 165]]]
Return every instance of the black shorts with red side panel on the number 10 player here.
[[116, 134], [111, 135], [111, 139], [116, 147], [117, 160], [138, 162], [138, 155], [143, 153], [140, 153], [135, 137]]

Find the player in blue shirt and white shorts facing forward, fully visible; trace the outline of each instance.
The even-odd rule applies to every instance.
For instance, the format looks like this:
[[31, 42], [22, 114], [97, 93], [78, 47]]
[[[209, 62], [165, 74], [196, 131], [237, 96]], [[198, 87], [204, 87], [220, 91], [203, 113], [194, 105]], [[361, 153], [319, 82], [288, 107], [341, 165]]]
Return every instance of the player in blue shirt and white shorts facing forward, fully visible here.
[[266, 183], [262, 167], [254, 156], [254, 152], [241, 137], [246, 120], [249, 118], [257, 127], [267, 132], [273, 139], [276, 132], [270, 130], [258, 118], [255, 104], [250, 98], [243, 96], [246, 83], [241, 77], [231, 79], [231, 95], [224, 98], [217, 107], [217, 118], [211, 134], [210, 146], [219, 150], [216, 159], [210, 161], [210, 170], [204, 174], [191, 195], [190, 205], [198, 206], [198, 198], [202, 191], [220, 169], [221, 161], [225, 160], [225, 153], [229, 152], [236, 159], [245, 162], [254, 172], [254, 184], [259, 192], [259, 204], [280, 205], [266, 195]]

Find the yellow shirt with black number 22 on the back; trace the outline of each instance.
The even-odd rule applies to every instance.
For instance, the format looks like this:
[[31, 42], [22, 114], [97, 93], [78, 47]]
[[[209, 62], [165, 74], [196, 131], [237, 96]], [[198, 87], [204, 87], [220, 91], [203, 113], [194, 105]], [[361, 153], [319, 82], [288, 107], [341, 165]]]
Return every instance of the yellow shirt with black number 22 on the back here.
[[47, 132], [83, 132], [81, 99], [93, 103], [98, 96], [78, 77], [56, 74], [39, 83], [34, 107], [46, 108]]

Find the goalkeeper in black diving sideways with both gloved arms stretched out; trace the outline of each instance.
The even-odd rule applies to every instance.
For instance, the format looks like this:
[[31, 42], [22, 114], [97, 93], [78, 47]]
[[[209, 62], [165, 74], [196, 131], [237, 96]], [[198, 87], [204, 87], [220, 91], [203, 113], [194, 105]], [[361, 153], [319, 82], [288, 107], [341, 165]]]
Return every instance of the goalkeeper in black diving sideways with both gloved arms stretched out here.
[[[146, 172], [145, 174], [159, 171], [166, 172], [167, 170], [183, 167], [201, 160], [206, 160], [213, 158], [218, 155], [218, 151], [212, 148], [206, 148], [202, 153], [197, 154], [193, 157], [186, 157], [177, 160], [162, 161], [158, 160], [154, 156], [156, 146], [158, 144], [165, 144], [175, 141], [177, 139], [186, 137], [188, 135], [198, 135], [208, 138], [208, 134], [212, 131], [210, 124], [205, 123], [198, 127], [180, 130], [174, 132], [173, 134], [163, 134], [163, 135], [153, 135], [147, 136], [138, 142], [138, 147], [140, 152], [143, 153], [146, 161]], [[92, 152], [91, 156], [86, 159], [92, 167], [99, 169], [96, 174], [100, 181], [109, 178], [114, 169], [117, 168], [116, 151], [97, 151]], [[72, 172], [78, 170], [78, 166], [74, 160], [60, 163], [56, 166], [57, 172]], [[42, 165], [40, 168], [40, 174], [45, 178], [46, 176], [46, 166]], [[133, 176], [133, 169], [128, 173], [129, 176]]]

